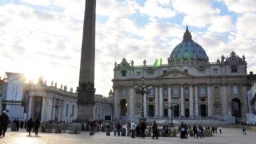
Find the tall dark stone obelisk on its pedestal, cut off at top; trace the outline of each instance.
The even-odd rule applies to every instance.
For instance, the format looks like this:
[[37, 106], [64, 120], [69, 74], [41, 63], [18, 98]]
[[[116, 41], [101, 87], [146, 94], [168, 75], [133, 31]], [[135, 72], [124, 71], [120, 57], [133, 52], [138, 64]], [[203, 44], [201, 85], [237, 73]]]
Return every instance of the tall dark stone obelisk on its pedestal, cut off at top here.
[[95, 17], [96, 0], [86, 0], [79, 87], [77, 87], [77, 121], [80, 122], [93, 120], [93, 107], [95, 104]]

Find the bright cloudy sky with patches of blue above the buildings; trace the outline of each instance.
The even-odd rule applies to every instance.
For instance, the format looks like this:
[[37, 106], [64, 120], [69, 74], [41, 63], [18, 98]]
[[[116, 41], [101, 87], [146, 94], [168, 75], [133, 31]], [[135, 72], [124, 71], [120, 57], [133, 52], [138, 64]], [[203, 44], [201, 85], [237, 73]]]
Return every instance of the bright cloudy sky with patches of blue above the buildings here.
[[[210, 61], [231, 51], [256, 73], [255, 0], [97, 0], [95, 87], [107, 96], [115, 61], [167, 57], [189, 25]], [[42, 75], [76, 87], [85, 0], [0, 0], [0, 75]]]

